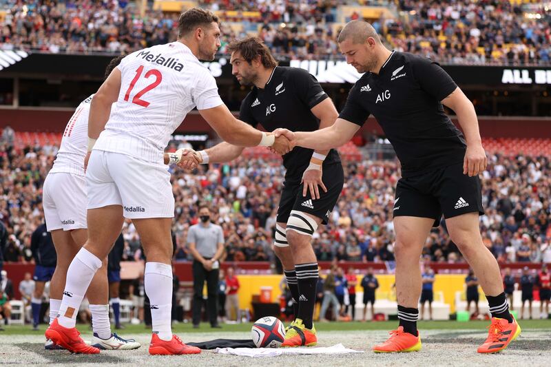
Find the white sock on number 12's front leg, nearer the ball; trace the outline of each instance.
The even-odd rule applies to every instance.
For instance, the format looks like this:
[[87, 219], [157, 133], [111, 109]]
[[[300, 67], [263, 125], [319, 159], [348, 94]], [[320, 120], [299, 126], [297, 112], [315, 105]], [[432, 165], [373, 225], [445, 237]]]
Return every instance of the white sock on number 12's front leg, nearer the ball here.
[[145, 264], [145, 293], [151, 307], [152, 330], [161, 340], [172, 339], [172, 267], [160, 262]]

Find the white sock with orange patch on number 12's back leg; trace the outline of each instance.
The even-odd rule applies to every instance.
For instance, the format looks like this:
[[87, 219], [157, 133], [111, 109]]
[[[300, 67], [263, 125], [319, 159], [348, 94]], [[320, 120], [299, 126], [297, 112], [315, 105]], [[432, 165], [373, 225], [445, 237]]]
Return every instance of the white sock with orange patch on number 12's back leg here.
[[67, 270], [67, 281], [63, 291], [63, 301], [59, 307], [58, 322], [65, 328], [74, 328], [76, 315], [79, 314], [84, 295], [92, 282], [92, 278], [101, 268], [101, 260], [96, 255], [80, 249]]

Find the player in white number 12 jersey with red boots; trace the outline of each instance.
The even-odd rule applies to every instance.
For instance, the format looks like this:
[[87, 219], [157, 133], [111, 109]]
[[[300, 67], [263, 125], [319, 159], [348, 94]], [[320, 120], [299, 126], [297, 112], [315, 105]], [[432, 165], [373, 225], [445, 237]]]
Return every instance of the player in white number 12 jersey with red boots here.
[[[153, 330], [149, 353], [200, 353], [171, 332], [174, 196], [163, 165], [163, 149], [191, 109], [197, 107], [228, 143], [270, 146], [280, 154], [289, 151], [284, 136], [275, 138], [237, 120], [218, 96], [214, 77], [199, 62], [213, 60], [220, 47], [218, 17], [192, 8], [180, 16], [178, 30], [178, 41], [126, 56], [92, 99], [86, 171], [88, 240], [69, 266], [59, 315], [46, 331], [46, 337], [74, 353], [99, 352], [80, 339], [76, 313], [124, 218], [134, 223], [147, 257], [145, 292]], [[116, 111], [110, 116], [115, 102]]]

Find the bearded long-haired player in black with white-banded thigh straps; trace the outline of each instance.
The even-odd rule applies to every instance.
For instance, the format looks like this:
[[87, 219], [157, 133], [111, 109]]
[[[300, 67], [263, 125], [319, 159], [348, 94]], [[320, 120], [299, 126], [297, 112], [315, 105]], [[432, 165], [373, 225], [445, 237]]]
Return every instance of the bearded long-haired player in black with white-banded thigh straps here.
[[[271, 132], [287, 128], [305, 132], [333, 125], [337, 110], [320, 83], [305, 70], [281, 67], [256, 37], [233, 41], [233, 75], [241, 85], [252, 86], [242, 101], [239, 118]], [[243, 151], [220, 143], [198, 151], [202, 163], [228, 162]], [[278, 208], [274, 251], [280, 258], [295, 301], [295, 320], [287, 328], [282, 346], [313, 346], [318, 261], [311, 238], [320, 223], [327, 224], [344, 183], [340, 157], [333, 149], [313, 151], [296, 147], [283, 156], [287, 169]], [[321, 187], [321, 189], [320, 189]]]

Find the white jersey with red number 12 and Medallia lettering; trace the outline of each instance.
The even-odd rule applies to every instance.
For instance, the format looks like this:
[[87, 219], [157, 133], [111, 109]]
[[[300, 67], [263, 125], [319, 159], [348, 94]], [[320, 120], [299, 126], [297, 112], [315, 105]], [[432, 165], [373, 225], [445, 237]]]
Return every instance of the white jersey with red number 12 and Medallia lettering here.
[[222, 105], [214, 77], [181, 42], [133, 52], [118, 69], [116, 112], [94, 149], [163, 162], [171, 134], [191, 109]]

